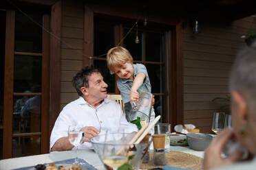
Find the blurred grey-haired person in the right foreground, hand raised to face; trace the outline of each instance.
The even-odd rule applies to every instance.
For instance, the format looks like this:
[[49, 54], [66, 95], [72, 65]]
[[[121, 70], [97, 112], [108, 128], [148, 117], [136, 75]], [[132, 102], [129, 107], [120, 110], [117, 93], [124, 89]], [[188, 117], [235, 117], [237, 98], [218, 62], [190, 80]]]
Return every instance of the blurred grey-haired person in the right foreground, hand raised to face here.
[[[204, 153], [204, 170], [256, 169], [256, 43], [238, 53], [229, 88], [233, 130], [226, 128], [213, 138]], [[241, 160], [240, 151], [222, 158], [222, 149], [231, 139], [246, 147], [250, 158]]]

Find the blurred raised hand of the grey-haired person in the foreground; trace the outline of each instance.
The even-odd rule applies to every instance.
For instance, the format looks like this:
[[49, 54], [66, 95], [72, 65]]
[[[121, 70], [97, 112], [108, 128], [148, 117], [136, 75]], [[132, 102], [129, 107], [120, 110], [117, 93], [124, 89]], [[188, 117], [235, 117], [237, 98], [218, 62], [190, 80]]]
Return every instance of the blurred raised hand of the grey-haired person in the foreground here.
[[229, 156], [227, 159], [221, 157], [222, 149], [232, 137], [233, 131], [226, 128], [217, 134], [211, 144], [204, 152], [204, 170], [212, 169], [215, 167], [223, 167], [226, 165], [231, 165], [239, 160], [242, 153], [235, 152], [233, 155]]

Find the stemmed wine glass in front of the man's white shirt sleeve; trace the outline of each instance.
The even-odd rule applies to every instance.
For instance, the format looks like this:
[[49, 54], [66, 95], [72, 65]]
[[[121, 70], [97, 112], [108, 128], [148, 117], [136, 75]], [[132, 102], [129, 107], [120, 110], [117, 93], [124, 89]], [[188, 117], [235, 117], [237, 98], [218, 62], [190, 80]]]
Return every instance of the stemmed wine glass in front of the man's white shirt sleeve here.
[[80, 164], [77, 158], [77, 147], [78, 145], [81, 145], [84, 140], [84, 132], [82, 128], [82, 125], [70, 125], [68, 127], [68, 140], [72, 145], [74, 145], [76, 151], [76, 158], [73, 163], [74, 165]]

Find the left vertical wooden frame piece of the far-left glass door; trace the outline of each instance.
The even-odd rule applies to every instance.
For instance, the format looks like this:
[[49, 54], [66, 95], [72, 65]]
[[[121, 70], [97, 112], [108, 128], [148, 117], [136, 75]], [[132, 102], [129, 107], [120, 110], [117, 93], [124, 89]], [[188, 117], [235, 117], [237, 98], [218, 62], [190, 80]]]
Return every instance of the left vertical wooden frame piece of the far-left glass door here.
[[3, 87], [3, 158], [12, 158], [15, 12], [6, 11], [6, 56]]

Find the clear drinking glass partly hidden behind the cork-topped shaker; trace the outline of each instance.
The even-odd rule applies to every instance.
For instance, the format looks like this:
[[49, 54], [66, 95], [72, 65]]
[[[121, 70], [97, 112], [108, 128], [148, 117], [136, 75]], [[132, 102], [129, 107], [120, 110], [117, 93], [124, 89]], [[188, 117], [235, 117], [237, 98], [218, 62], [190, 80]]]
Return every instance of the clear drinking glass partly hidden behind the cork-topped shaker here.
[[155, 125], [155, 134], [164, 134], [164, 151], [170, 151], [170, 140], [171, 140], [171, 124], [169, 123], [158, 123]]

